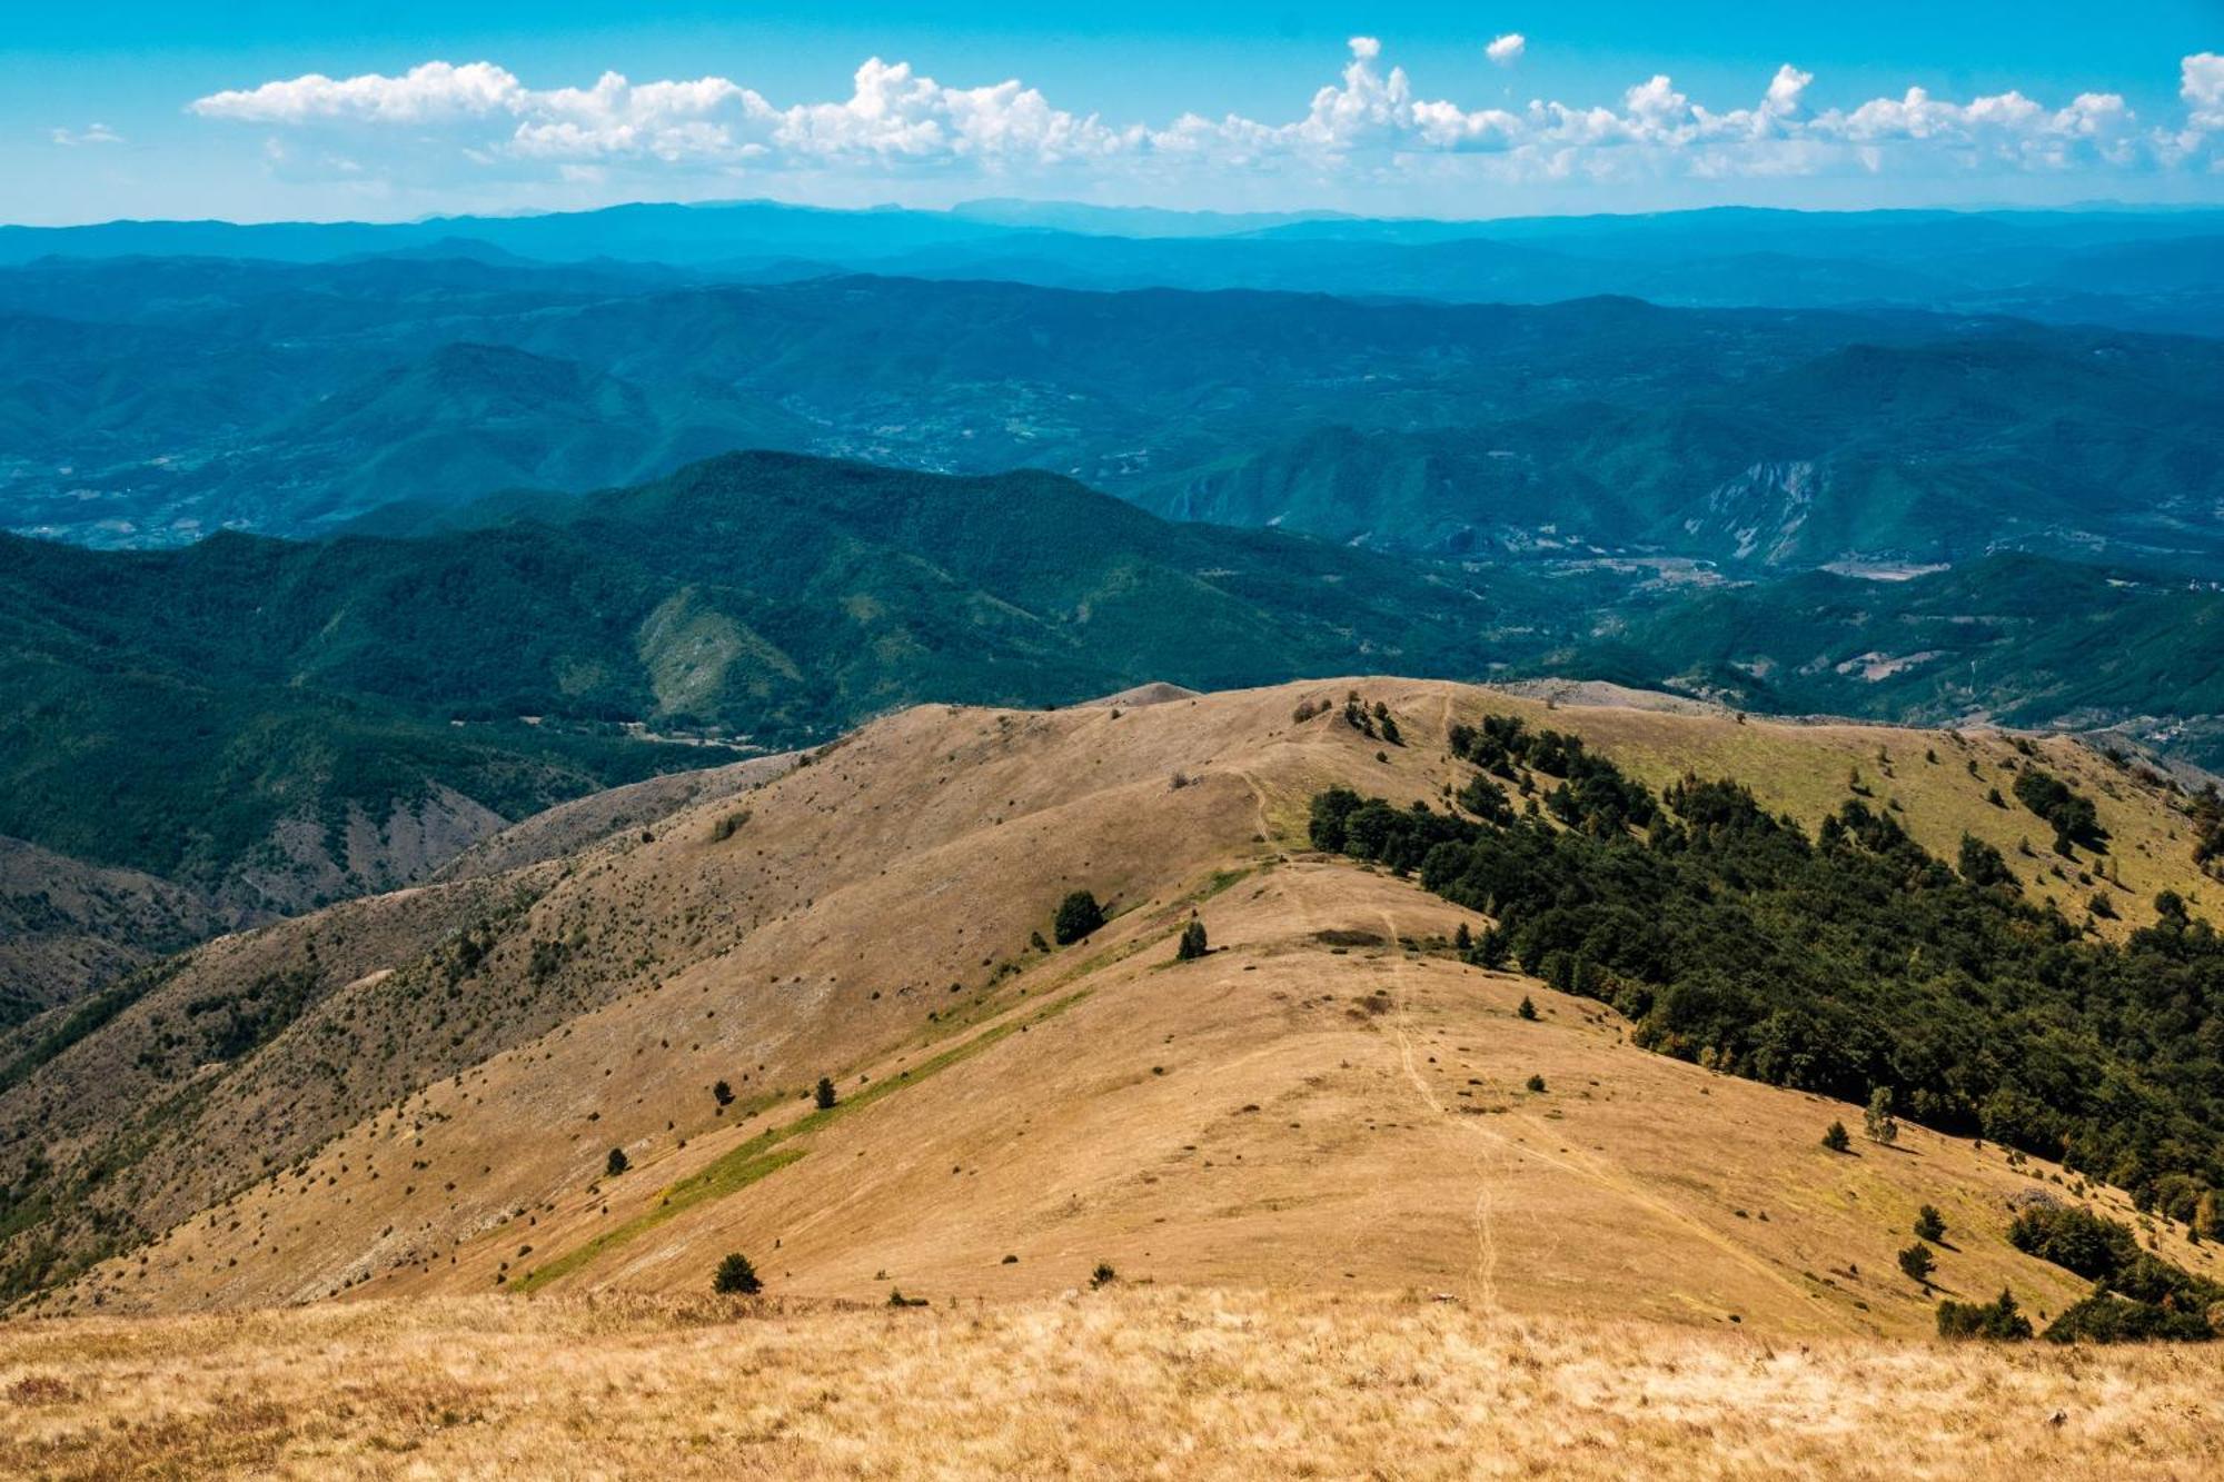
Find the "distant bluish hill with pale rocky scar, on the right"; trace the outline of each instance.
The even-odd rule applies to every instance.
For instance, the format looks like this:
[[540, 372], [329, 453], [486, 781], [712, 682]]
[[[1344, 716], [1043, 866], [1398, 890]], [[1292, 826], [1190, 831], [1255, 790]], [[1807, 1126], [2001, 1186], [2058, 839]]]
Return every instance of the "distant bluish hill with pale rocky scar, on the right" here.
[[2066, 332], [1848, 345], [1737, 385], [1432, 429], [1330, 427], [1132, 494], [1176, 518], [1732, 572], [2042, 550], [2213, 570], [2224, 360]]

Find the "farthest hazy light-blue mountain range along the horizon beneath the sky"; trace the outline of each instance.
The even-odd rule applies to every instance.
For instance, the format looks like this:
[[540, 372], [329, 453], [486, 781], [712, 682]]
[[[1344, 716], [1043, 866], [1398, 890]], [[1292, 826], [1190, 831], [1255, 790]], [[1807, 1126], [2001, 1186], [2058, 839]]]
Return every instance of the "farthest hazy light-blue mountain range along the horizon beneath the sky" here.
[[47, 256], [374, 254], [678, 265], [716, 276], [876, 271], [1045, 287], [1292, 289], [1548, 303], [1902, 305], [2142, 329], [2224, 329], [2224, 211], [1766, 211], [1366, 220], [985, 200], [827, 211], [767, 200], [367, 223], [0, 227]]

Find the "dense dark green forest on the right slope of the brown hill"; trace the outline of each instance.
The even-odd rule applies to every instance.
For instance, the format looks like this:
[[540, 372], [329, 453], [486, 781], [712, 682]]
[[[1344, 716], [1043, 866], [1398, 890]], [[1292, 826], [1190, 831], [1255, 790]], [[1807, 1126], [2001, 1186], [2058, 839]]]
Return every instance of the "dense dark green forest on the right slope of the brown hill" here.
[[2184, 901], [2117, 946], [1990, 850], [1955, 870], [1859, 799], [1808, 834], [1737, 783], [1655, 794], [1510, 717], [1452, 745], [1477, 763], [1457, 810], [1332, 788], [1312, 841], [1490, 915], [1475, 961], [1612, 1004], [1650, 1050], [1846, 1101], [1886, 1088], [1924, 1126], [2217, 1224], [2224, 941]]

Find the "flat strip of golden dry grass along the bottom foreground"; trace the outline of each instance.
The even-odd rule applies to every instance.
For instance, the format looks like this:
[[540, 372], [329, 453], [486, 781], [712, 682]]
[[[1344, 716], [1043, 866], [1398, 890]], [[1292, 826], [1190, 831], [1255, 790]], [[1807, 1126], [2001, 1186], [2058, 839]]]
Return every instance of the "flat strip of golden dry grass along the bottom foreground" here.
[[1123, 1288], [358, 1302], [0, 1326], [0, 1475], [2193, 1478], [2224, 1353]]

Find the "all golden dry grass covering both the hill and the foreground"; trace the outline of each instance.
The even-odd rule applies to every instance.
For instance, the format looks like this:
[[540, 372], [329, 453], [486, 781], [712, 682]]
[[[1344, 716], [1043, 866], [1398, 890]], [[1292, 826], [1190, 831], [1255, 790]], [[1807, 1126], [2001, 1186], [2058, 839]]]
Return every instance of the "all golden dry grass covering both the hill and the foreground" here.
[[[1352, 683], [1406, 748], [1292, 721]], [[327, 912], [365, 975], [160, 1148], [173, 1224], [42, 1308], [78, 1315], [0, 1324], [0, 1475], [2224, 1473], [2224, 1353], [1942, 1346], [1893, 1264], [1937, 1204], [1937, 1291], [2006, 1284], [2044, 1322], [2082, 1284], [2002, 1239], [2042, 1182], [2204, 1275], [2213, 1244], [1924, 1128], [1826, 1153], [1855, 1108], [1646, 1055], [1599, 1004], [1452, 961], [1479, 917], [1303, 852], [1330, 781], [1443, 797], [1446, 728], [1483, 708], [1810, 823], [1859, 765], [1942, 852], [2031, 828], [1986, 801], [2002, 737], [1546, 719], [1410, 681], [892, 717], [752, 794], [741, 834], [714, 803], [540, 866], [527, 935], [592, 923], [618, 977], [383, 1108], [336, 1097], [307, 1142], [318, 1035], [380, 1021], [383, 970], [469, 888]], [[2128, 919], [2211, 886], [2166, 799], [2048, 765], [2099, 797]], [[2037, 892], [2099, 888], [2010, 857]], [[1074, 883], [1121, 912], [1025, 946]], [[1192, 910], [1214, 950], [1176, 966]], [[138, 1028], [294, 930], [209, 948]], [[536, 986], [503, 959], [471, 992]], [[91, 1135], [127, 1064], [98, 1048], [0, 1108]], [[727, 1251], [781, 1302], [696, 1295]], [[1123, 1282], [1074, 1291], [1099, 1259]]]

